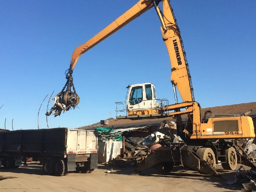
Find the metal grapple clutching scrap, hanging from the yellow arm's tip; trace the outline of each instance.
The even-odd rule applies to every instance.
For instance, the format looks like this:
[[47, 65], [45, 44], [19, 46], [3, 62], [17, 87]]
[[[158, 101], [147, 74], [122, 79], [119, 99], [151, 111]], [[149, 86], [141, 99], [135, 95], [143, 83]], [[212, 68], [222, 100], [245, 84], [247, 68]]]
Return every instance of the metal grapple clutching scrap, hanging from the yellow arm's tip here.
[[[53, 113], [54, 117], [56, 116], [60, 116], [60, 114], [68, 111], [70, 109], [70, 107], [75, 108], [78, 103], [80, 102], [80, 98], [78, 96], [78, 94], [76, 94], [75, 91], [75, 87], [74, 87], [74, 83], [73, 83], [73, 77], [72, 77], [72, 73], [73, 71], [71, 70], [66, 70], [68, 71], [68, 73], [65, 72], [66, 75], [66, 84], [63, 87], [62, 91], [60, 91], [55, 97], [54, 97], [54, 106], [50, 109], [50, 112], [46, 113], [46, 116], [49, 116], [50, 114], [52, 114], [53, 111], [55, 111]], [[73, 91], [71, 91], [71, 87], [73, 86]], [[66, 88], [66, 91], [64, 91]]]

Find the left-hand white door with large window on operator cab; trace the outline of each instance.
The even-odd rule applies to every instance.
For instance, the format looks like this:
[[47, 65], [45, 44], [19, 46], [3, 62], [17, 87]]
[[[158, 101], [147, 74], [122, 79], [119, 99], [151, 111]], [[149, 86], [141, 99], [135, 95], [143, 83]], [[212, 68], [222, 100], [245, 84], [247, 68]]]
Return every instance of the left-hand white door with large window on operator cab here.
[[128, 98], [127, 98], [128, 110], [138, 110], [138, 109], [144, 108], [144, 102], [143, 102], [144, 90], [145, 89], [143, 85], [130, 87]]

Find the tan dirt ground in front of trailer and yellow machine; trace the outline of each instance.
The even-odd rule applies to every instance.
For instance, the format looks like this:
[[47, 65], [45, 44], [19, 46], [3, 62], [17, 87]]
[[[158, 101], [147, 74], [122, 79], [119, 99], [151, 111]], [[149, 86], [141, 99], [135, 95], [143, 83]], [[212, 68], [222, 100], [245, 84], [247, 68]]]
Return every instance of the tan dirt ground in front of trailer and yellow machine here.
[[[238, 165], [239, 167], [240, 165]], [[237, 167], [237, 168], [238, 168]], [[240, 185], [227, 185], [196, 171], [174, 167], [169, 174], [159, 175], [153, 168], [143, 171], [142, 176], [129, 175], [135, 167], [119, 169], [113, 167], [111, 174], [105, 171], [108, 165], [99, 165], [90, 174], [71, 172], [66, 176], [43, 175], [42, 166], [36, 162], [28, 162], [27, 166], [16, 169], [0, 169], [1, 192], [90, 192], [90, 191], [174, 191], [174, 192], [228, 192], [245, 191]], [[217, 171], [224, 179], [229, 180], [235, 171], [226, 171], [217, 165]], [[249, 169], [249, 167], [245, 168]]]

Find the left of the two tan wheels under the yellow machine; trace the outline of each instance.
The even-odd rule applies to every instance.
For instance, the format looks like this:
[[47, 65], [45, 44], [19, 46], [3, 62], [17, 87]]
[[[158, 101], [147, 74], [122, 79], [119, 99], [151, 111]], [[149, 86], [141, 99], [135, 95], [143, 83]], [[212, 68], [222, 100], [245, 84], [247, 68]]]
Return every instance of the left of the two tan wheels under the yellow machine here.
[[206, 162], [208, 162], [208, 164], [215, 169], [216, 159], [215, 159], [215, 154], [214, 154], [214, 152], [213, 152], [213, 150], [211, 148], [204, 148], [204, 147], [199, 148], [199, 149], [197, 149], [196, 154], [201, 159], [203, 159]]

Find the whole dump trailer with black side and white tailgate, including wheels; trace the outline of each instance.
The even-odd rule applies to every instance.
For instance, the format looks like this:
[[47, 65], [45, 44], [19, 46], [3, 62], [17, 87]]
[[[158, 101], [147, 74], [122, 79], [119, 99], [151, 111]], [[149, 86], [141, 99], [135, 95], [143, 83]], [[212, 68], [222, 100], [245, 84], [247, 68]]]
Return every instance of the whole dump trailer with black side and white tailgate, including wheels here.
[[22, 158], [40, 159], [47, 175], [98, 168], [97, 129], [28, 129], [0, 132], [0, 167], [19, 167]]

